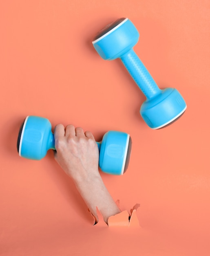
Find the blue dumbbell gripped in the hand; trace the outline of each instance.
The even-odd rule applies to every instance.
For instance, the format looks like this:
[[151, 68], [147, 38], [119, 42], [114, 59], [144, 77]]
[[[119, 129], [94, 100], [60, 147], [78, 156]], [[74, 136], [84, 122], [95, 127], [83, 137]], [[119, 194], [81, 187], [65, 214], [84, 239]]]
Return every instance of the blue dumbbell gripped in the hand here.
[[[55, 150], [54, 135], [51, 123], [43, 117], [28, 116], [18, 134], [17, 150], [21, 157], [40, 160], [49, 149]], [[128, 168], [132, 140], [129, 134], [108, 131], [99, 148], [99, 167], [109, 174], [122, 175]]]

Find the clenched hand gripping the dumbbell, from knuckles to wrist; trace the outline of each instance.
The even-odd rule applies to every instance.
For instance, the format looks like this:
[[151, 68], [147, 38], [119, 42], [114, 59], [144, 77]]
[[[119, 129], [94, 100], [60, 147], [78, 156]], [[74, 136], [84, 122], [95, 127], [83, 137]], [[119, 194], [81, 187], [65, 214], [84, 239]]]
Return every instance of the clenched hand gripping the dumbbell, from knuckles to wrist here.
[[99, 150], [91, 132], [58, 124], [54, 137], [55, 160], [75, 183], [99, 176]]

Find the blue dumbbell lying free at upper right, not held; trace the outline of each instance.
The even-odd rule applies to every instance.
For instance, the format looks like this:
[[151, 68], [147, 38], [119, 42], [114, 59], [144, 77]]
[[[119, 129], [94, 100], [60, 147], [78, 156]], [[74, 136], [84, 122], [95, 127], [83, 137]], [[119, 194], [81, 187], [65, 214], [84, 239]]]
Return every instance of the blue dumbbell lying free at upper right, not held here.
[[163, 128], [181, 117], [187, 106], [175, 88], [159, 89], [133, 51], [138, 40], [139, 32], [133, 23], [128, 18], [120, 18], [99, 31], [92, 43], [104, 60], [121, 59], [146, 96], [140, 108], [141, 117], [150, 128]]

